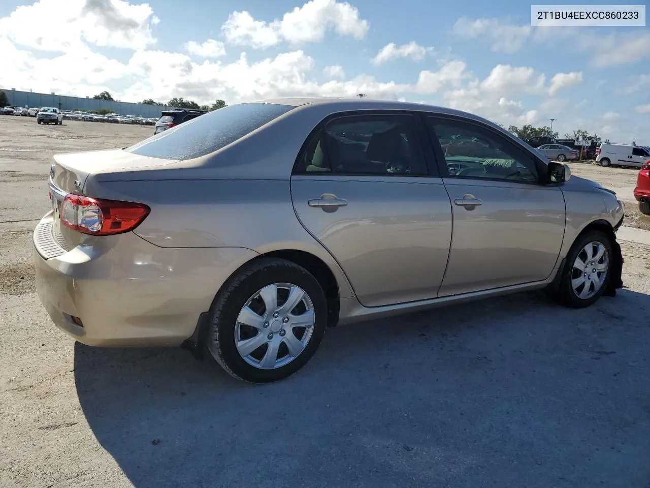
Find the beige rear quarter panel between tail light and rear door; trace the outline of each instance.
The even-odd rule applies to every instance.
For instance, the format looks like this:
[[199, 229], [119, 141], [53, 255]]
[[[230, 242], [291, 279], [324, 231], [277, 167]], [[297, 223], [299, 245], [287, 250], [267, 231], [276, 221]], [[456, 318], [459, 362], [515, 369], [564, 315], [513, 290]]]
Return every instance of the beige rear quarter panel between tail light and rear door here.
[[341, 297], [353, 296], [339, 265], [298, 221], [290, 191], [289, 179], [149, 180], [106, 182], [94, 196], [148, 205], [134, 232], [159, 247], [309, 252], [330, 267]]

